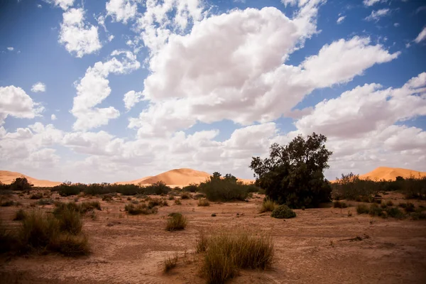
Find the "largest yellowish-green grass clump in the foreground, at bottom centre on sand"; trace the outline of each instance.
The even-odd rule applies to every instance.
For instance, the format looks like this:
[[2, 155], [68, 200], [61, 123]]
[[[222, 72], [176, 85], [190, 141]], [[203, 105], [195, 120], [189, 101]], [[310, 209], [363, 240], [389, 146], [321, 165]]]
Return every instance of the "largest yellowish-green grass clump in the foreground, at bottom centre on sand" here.
[[239, 269], [266, 269], [273, 261], [273, 241], [266, 235], [221, 233], [206, 242], [201, 273], [207, 283], [224, 283]]

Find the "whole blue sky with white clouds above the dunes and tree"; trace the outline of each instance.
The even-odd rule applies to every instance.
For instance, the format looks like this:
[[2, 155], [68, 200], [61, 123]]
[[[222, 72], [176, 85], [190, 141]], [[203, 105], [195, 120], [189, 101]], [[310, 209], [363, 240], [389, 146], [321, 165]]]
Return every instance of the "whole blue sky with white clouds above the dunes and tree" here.
[[426, 171], [426, 2], [0, 1], [0, 170], [253, 178], [312, 132], [329, 180]]

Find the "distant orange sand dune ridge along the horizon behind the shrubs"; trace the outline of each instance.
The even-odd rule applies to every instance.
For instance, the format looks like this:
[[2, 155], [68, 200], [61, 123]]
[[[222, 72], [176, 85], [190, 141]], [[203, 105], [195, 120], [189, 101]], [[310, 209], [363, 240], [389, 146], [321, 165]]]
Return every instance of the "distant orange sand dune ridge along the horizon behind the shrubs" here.
[[[426, 172], [419, 172], [417, 170], [408, 170], [403, 168], [378, 167], [375, 170], [372, 170], [370, 173], [360, 175], [359, 178], [370, 178], [371, 180], [395, 180], [395, 178], [398, 176], [401, 176], [403, 178], [409, 178], [411, 175], [413, 175], [415, 178], [426, 177]], [[0, 170], [0, 182], [4, 184], [10, 184], [11, 182], [13, 182], [13, 180], [15, 180], [16, 178], [21, 178], [22, 176], [27, 178], [27, 180], [36, 187], [53, 187], [55, 185], [60, 185], [61, 183], [53, 182], [50, 180], [37, 180], [21, 173], [9, 172], [8, 170]], [[159, 175], [140, 178], [138, 180], [116, 182], [116, 184], [151, 185], [155, 182], [163, 181], [166, 185], [169, 185], [171, 187], [182, 187], [190, 185], [192, 183], [199, 184], [200, 182], [204, 182], [209, 177], [209, 173], [201, 172], [200, 170], [180, 168], [175, 170], [169, 170], [168, 172], [160, 173]], [[244, 183], [254, 182], [254, 180], [248, 179], [239, 179], [239, 181]]]

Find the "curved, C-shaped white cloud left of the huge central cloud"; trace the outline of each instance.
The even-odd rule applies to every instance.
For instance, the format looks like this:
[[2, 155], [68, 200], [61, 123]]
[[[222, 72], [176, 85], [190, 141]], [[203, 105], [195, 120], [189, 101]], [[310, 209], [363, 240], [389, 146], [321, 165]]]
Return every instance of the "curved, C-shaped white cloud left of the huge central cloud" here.
[[[77, 118], [73, 129], [87, 130], [108, 124], [109, 119], [115, 119], [120, 112], [114, 107], [96, 108], [111, 93], [110, 73], [126, 74], [137, 70], [141, 64], [130, 51], [114, 50], [112, 58], [107, 62], [96, 62], [89, 67], [86, 74], [76, 84], [77, 97], [74, 98], [71, 113]], [[119, 59], [117, 59], [119, 58]]]

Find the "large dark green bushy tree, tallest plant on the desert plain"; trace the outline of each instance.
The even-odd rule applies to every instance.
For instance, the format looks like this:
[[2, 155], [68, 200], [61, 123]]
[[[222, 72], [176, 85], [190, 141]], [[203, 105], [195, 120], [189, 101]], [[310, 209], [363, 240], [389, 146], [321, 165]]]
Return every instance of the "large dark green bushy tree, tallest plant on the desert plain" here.
[[325, 148], [327, 137], [316, 134], [305, 139], [299, 135], [288, 145], [274, 143], [269, 158], [253, 157], [250, 168], [256, 185], [266, 196], [291, 208], [317, 207], [329, 202], [332, 188], [324, 178], [331, 151]]

